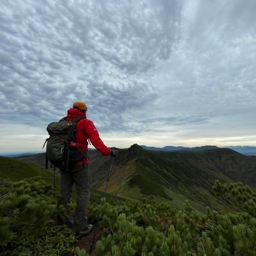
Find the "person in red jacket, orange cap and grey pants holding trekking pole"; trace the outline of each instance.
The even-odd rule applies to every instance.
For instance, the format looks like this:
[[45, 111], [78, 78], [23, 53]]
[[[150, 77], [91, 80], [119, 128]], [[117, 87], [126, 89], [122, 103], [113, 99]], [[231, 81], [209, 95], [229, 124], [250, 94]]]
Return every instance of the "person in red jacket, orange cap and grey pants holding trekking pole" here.
[[[72, 186], [75, 184], [77, 191], [77, 207], [74, 218], [71, 214], [68, 214], [65, 217], [58, 215], [58, 220], [60, 221], [61, 219], [62, 223], [73, 227], [77, 238], [88, 234], [90, 230], [92, 230], [92, 225], [88, 225], [85, 215], [90, 197], [91, 183], [91, 175], [88, 168], [88, 141], [90, 141], [92, 145], [102, 153], [103, 156], [110, 155], [115, 157], [118, 154], [118, 150], [111, 150], [111, 148], [104, 145], [103, 141], [99, 137], [99, 132], [95, 128], [95, 125], [91, 120], [86, 118], [86, 111], [87, 106], [84, 102], [74, 102], [73, 108], [70, 108], [67, 111], [67, 117], [65, 117], [67, 122], [70, 122], [70, 120], [74, 120], [79, 116], [84, 117], [76, 124], [75, 141], [79, 152], [81, 152], [84, 157], [83, 159], [72, 163], [69, 166], [68, 171], [60, 168], [61, 198], [58, 202], [58, 206], [64, 205], [67, 207], [70, 196], [72, 195]], [[64, 120], [64, 118], [62, 120]]]

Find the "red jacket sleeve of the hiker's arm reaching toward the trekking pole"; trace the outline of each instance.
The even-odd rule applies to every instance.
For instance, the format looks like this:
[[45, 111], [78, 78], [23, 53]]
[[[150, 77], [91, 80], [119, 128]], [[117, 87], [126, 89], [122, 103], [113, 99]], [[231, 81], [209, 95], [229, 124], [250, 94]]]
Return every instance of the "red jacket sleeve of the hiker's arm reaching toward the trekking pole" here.
[[99, 150], [99, 152], [103, 156], [109, 156], [109, 154], [111, 153], [111, 149], [108, 148], [100, 139], [99, 132], [97, 131], [95, 125], [91, 120], [87, 119], [85, 130], [86, 130], [87, 138], [92, 142], [92, 145], [97, 150]]

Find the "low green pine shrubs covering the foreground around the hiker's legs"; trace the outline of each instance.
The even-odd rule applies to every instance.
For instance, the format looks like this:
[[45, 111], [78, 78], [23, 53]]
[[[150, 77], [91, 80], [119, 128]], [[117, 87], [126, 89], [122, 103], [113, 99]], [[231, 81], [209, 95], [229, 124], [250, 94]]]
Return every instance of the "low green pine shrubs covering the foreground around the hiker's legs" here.
[[[0, 184], [0, 255], [88, 255], [76, 249], [74, 233], [55, 225], [56, 199], [40, 177]], [[166, 203], [143, 204], [94, 196], [88, 219], [100, 219], [102, 238], [95, 255], [256, 255], [256, 193], [238, 182], [214, 185], [239, 211], [198, 214], [185, 202], [175, 210]], [[70, 207], [74, 207], [71, 204]]]

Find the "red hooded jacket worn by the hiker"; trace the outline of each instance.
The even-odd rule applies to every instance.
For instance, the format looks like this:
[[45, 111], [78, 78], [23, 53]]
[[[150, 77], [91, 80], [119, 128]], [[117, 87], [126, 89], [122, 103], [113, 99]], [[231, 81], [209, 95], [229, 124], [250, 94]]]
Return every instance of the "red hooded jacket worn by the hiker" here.
[[[80, 120], [76, 124], [76, 143], [80, 151], [88, 152], [88, 140], [91, 141], [92, 145], [99, 150], [103, 156], [109, 156], [111, 149], [104, 145], [100, 139], [99, 132], [97, 131], [93, 122], [86, 118], [79, 109], [70, 108], [68, 109], [66, 121], [74, 120], [78, 116], [84, 116], [85, 118]], [[88, 163], [89, 159], [84, 160], [84, 163]], [[77, 163], [77, 165], [83, 164], [83, 161]]]

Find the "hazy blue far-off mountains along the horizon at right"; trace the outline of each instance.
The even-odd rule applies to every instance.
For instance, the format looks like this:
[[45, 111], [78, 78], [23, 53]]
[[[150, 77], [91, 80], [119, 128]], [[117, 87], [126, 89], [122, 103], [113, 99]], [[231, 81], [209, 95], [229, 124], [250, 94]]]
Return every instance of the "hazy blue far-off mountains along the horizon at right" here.
[[[141, 145], [142, 148], [147, 149], [147, 150], [152, 150], [152, 151], [168, 151], [168, 152], [173, 152], [173, 151], [200, 151], [200, 150], [209, 150], [209, 149], [214, 149], [214, 148], [219, 148], [216, 146], [202, 146], [202, 147], [173, 147], [173, 146], [166, 146], [163, 148], [157, 148], [157, 147], [148, 147], [145, 145]], [[244, 154], [246, 156], [256, 156], [256, 147], [247, 147], [247, 146], [230, 146], [230, 147], [225, 147], [225, 148], [230, 148], [232, 150], [235, 150], [236, 152], [239, 152], [241, 154]]]

